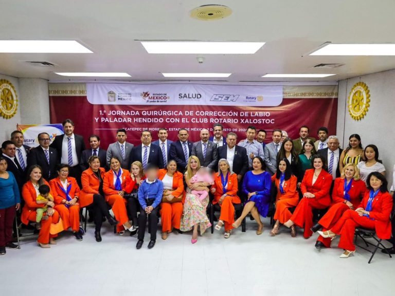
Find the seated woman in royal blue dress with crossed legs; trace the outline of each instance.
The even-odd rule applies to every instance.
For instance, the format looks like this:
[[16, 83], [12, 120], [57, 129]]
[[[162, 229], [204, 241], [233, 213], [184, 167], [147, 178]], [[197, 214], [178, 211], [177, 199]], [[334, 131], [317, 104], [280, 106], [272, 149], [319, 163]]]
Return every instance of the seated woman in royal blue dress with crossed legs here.
[[270, 204], [270, 189], [272, 186], [271, 175], [265, 172], [265, 165], [261, 157], [253, 159], [253, 170], [246, 172], [243, 180], [243, 193], [247, 195], [247, 201], [239, 219], [232, 224], [237, 228], [248, 213], [251, 213], [258, 223], [257, 234], [262, 234], [263, 224], [260, 214], [267, 216]]

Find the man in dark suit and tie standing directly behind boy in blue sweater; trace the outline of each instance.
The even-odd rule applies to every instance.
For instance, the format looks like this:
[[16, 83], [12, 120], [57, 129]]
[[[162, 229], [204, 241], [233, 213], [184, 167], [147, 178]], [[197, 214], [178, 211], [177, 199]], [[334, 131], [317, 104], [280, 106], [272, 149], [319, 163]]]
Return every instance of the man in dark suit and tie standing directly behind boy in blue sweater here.
[[163, 156], [159, 146], [151, 144], [152, 135], [149, 130], [141, 132], [141, 145], [134, 146], [130, 153], [130, 163], [138, 161], [145, 170], [148, 164], [152, 164], [160, 169], [163, 168]]

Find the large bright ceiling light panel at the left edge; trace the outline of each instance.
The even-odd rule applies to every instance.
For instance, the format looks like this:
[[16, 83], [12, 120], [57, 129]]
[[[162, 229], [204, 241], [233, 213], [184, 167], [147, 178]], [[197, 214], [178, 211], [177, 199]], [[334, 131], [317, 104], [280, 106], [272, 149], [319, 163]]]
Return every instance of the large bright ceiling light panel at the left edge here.
[[0, 40], [7, 53], [92, 53], [75, 40]]

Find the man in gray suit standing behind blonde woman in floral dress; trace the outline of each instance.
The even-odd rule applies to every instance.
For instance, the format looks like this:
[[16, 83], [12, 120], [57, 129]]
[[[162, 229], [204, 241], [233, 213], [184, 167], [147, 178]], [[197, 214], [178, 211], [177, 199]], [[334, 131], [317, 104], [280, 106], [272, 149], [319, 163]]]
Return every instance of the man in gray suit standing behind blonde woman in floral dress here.
[[218, 151], [217, 144], [208, 141], [210, 133], [208, 129], [202, 129], [200, 131], [201, 141], [193, 143], [192, 155], [197, 156], [200, 161], [200, 165], [208, 167], [216, 171], [218, 165]]

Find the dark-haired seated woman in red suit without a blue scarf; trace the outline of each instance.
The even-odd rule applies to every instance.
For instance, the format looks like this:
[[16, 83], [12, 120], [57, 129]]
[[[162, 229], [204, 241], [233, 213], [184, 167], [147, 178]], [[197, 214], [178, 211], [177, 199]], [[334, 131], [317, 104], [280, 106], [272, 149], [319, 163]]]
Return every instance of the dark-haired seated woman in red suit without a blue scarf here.
[[[304, 227], [303, 236], [305, 239], [310, 238], [313, 234], [313, 209], [325, 209], [331, 204], [329, 190], [332, 184], [332, 175], [325, 171], [325, 159], [323, 156], [315, 154], [312, 157], [313, 169], [306, 170], [300, 185], [303, 198], [296, 207], [291, 219], [284, 225], [291, 227], [296, 224]], [[295, 235], [295, 233], [294, 233]]]

